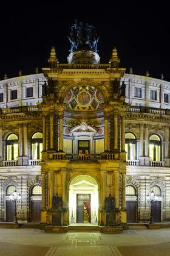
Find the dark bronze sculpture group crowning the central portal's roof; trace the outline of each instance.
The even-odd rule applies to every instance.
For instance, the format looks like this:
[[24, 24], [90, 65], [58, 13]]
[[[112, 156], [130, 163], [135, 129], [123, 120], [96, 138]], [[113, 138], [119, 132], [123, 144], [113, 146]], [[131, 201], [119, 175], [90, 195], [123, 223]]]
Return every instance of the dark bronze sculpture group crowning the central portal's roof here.
[[75, 24], [71, 27], [69, 35], [70, 52], [82, 49], [97, 52], [98, 38], [94, 26], [88, 23], [78, 23], [75, 20]]

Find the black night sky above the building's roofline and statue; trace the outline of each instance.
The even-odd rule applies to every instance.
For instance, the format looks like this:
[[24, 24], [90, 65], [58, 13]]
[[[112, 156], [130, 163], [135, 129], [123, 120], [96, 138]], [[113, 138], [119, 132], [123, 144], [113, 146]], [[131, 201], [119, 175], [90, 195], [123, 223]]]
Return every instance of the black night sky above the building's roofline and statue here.
[[100, 35], [101, 63], [108, 63], [116, 46], [121, 67], [170, 81], [169, 8], [163, 2], [123, 1], [4, 1], [1, 4], [0, 78], [35, 73], [47, 66], [55, 46], [60, 63], [67, 62], [70, 26], [77, 19], [93, 24]]

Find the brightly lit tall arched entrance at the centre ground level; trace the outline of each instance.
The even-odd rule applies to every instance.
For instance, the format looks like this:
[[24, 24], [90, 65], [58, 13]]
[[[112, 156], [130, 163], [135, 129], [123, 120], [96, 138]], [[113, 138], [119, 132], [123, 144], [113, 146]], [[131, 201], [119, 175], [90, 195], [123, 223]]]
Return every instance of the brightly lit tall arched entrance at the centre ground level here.
[[70, 182], [69, 222], [98, 223], [98, 184], [88, 175], [80, 175]]

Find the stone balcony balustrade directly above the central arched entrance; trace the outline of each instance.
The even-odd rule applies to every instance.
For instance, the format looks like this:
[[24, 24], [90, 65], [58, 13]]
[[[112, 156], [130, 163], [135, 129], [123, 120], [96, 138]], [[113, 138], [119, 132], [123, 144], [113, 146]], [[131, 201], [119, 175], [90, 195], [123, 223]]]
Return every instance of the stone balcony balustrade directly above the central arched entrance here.
[[97, 161], [101, 159], [100, 154], [67, 154], [70, 161]]

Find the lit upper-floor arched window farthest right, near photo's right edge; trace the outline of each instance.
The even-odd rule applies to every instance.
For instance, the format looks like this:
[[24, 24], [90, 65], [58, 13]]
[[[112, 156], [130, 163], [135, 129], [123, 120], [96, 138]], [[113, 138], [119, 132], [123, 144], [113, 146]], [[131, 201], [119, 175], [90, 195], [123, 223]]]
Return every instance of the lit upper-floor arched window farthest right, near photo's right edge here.
[[149, 157], [151, 161], [161, 161], [161, 140], [156, 134], [149, 137]]

